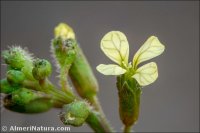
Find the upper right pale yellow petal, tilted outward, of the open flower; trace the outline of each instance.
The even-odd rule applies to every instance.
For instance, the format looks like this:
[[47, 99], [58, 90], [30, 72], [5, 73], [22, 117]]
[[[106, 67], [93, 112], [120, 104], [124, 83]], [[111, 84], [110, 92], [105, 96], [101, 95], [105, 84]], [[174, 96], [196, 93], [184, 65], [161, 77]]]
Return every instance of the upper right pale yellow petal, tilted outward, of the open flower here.
[[137, 67], [138, 64], [146, 60], [150, 60], [163, 53], [165, 46], [160, 43], [157, 37], [151, 36], [140, 47], [133, 58], [133, 66]]

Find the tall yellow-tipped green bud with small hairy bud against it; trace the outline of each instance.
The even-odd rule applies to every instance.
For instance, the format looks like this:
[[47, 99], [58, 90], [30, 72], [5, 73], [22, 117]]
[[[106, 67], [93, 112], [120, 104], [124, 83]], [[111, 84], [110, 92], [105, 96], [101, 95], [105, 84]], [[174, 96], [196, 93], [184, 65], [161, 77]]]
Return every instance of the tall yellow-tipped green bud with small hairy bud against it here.
[[[70, 78], [78, 94], [93, 103], [94, 96], [98, 91], [98, 83], [85, 55], [76, 42], [73, 29], [67, 24], [62, 23], [55, 28], [52, 51], [61, 67], [61, 80], [64, 79], [63, 76], [67, 76], [66, 73], [65, 75], [63, 73], [66, 72], [66, 68], [69, 68]], [[62, 68], [65, 69], [62, 70]]]

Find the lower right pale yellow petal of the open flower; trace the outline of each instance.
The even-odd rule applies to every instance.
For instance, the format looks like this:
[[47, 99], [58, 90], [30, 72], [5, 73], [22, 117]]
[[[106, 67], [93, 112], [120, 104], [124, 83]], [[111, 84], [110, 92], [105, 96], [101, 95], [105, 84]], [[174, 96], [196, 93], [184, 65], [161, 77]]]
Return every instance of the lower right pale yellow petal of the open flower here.
[[153, 83], [158, 78], [158, 68], [155, 62], [139, 67], [132, 76], [141, 86]]

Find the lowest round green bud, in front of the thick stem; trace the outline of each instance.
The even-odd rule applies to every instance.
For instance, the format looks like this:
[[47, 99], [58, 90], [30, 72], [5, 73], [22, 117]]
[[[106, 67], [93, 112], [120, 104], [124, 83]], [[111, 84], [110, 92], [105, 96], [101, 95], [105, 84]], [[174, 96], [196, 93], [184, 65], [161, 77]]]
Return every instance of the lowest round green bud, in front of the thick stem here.
[[90, 107], [85, 101], [74, 101], [63, 106], [60, 119], [65, 125], [81, 126], [90, 113]]

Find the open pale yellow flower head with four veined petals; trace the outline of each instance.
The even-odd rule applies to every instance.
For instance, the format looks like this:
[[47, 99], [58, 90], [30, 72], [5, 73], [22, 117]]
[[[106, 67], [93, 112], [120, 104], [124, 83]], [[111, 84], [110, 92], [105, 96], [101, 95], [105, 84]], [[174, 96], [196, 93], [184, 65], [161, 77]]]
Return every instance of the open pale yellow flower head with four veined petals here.
[[135, 78], [141, 86], [146, 86], [158, 78], [157, 65], [155, 62], [147, 63], [139, 68], [138, 65], [162, 54], [165, 46], [160, 43], [157, 37], [151, 36], [136, 52], [132, 63], [128, 63], [129, 44], [126, 36], [120, 31], [111, 31], [102, 38], [101, 49], [108, 58], [118, 65], [100, 64], [97, 66], [100, 73], [104, 75], [122, 75], [126, 73]]

